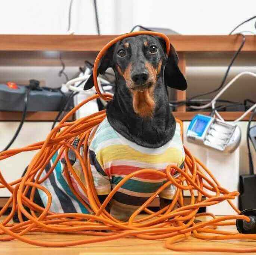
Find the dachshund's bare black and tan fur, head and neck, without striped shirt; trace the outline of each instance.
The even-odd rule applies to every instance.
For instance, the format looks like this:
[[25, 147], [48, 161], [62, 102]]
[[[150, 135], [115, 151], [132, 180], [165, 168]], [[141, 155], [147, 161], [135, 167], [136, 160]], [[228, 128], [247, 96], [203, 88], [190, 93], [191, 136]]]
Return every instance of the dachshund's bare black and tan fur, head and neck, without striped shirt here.
[[[107, 105], [110, 125], [129, 141], [159, 148], [173, 138], [175, 118], [170, 111], [167, 86], [185, 90], [186, 79], [178, 67], [178, 55], [170, 45], [169, 56], [162, 38], [128, 37], [113, 45], [101, 59], [98, 73], [112, 67], [116, 91]], [[84, 89], [93, 87], [93, 75]], [[99, 196], [101, 202], [106, 196]], [[161, 199], [161, 207], [170, 200]]]

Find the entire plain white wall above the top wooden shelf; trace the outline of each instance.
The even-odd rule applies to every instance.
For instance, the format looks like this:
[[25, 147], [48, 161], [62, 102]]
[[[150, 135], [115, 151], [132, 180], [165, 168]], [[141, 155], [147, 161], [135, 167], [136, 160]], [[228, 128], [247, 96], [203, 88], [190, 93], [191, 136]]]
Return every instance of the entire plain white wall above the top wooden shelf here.
[[[1, 0], [0, 34], [64, 34], [70, 0]], [[181, 34], [228, 34], [255, 15], [256, 1], [98, 0], [102, 34], [128, 32], [133, 25], [171, 28]], [[71, 29], [96, 34], [93, 0], [74, 0]], [[253, 21], [242, 30], [252, 30]]]

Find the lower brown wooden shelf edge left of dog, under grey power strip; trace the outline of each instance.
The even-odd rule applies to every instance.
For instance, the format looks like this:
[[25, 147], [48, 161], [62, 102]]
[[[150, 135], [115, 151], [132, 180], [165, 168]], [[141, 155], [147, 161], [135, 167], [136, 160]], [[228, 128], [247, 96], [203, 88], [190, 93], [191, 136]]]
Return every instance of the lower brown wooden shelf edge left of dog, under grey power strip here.
[[[58, 111], [35, 111], [28, 112], [26, 121], [54, 121]], [[21, 120], [22, 112], [19, 111], [0, 111], [0, 121], [19, 121]], [[68, 120], [72, 120], [69, 118]]]

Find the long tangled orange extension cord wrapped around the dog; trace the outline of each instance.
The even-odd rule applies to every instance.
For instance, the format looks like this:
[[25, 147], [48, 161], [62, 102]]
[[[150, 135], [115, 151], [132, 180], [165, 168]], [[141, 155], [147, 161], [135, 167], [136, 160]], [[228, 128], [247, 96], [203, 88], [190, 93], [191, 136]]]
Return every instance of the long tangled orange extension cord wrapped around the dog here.
[[[194, 247], [185, 248], [182, 246], [182, 240], [189, 236], [194, 236], [200, 239], [213, 239], [213, 240], [224, 240], [224, 239], [256, 239], [256, 234], [238, 234], [226, 231], [217, 230], [218, 226], [234, 225], [234, 221], [227, 220], [246, 220], [250, 221], [249, 217], [245, 215], [238, 215], [240, 211], [235, 208], [230, 200], [234, 199], [239, 195], [237, 191], [229, 192], [225, 188], [222, 188], [219, 182], [211, 174], [211, 172], [201, 163], [200, 160], [193, 157], [188, 149], [185, 149], [186, 157], [183, 169], [179, 169], [176, 166], [168, 166], [166, 173], [159, 172], [154, 169], [143, 169], [127, 175], [117, 186], [111, 191], [107, 199], [103, 204], [99, 202], [96, 194], [93, 177], [90, 171], [90, 164], [87, 157], [88, 154], [88, 138], [92, 128], [106, 117], [105, 110], [98, 113], [92, 114], [88, 117], [83, 117], [74, 122], [65, 122], [75, 111], [85, 105], [90, 100], [95, 100], [98, 97], [104, 100], [111, 100], [112, 97], [108, 94], [101, 94], [97, 84], [97, 66], [101, 56], [105, 53], [108, 47], [114, 44], [116, 41], [121, 40], [124, 37], [138, 35], [138, 34], [154, 34], [163, 37], [166, 40], [166, 44], [169, 44], [169, 39], [163, 34], [154, 32], [134, 32], [132, 34], [122, 35], [107, 44], [95, 61], [94, 67], [94, 84], [96, 87], [97, 95], [90, 97], [83, 101], [73, 110], [71, 110], [63, 120], [56, 126], [47, 136], [43, 142], [37, 142], [36, 144], [28, 145], [19, 149], [10, 149], [0, 153], [0, 160], [12, 157], [21, 152], [39, 150], [34, 158], [31, 160], [27, 173], [24, 177], [15, 180], [14, 182], [7, 183], [4, 179], [2, 172], [0, 171], [0, 188], [7, 188], [12, 196], [0, 210], [0, 216], [3, 215], [7, 208], [12, 203], [11, 213], [0, 223], [1, 229], [1, 241], [9, 241], [18, 239], [26, 243], [38, 246], [46, 247], [65, 247], [73, 245], [81, 245], [86, 243], [103, 242], [107, 240], [114, 240], [121, 237], [137, 237], [140, 239], [158, 240], [166, 239], [166, 247], [173, 251], [215, 251], [215, 252], [256, 252], [256, 248], [218, 248], [218, 247]], [[167, 53], [169, 49], [167, 48]], [[182, 127], [182, 122], [177, 120]], [[181, 128], [182, 130], [182, 128]], [[75, 137], [80, 138], [77, 149], [72, 147], [72, 141]], [[79, 153], [81, 145], [84, 145], [84, 156], [82, 157]], [[81, 183], [79, 177], [76, 175], [73, 167], [68, 160], [68, 150], [72, 149], [77, 159], [80, 161], [83, 169], [86, 185]], [[59, 150], [58, 157], [53, 163], [51, 169], [46, 176], [41, 177], [41, 174], [49, 163], [52, 156]], [[55, 166], [61, 157], [62, 153], [65, 153], [65, 160], [67, 167], [64, 169], [64, 174], [70, 183], [70, 188], [73, 193], [79, 199], [79, 201], [91, 212], [91, 214], [81, 213], [64, 213], [57, 214], [52, 213], [49, 208], [52, 202], [50, 192], [41, 186], [40, 184], [46, 180], [49, 175], [54, 171]], [[171, 169], [175, 169], [180, 173], [180, 176], [174, 178], [170, 173]], [[69, 179], [68, 172], [72, 173], [74, 178], [77, 180], [83, 191], [87, 194], [90, 201], [90, 207], [83, 201], [80, 195], [75, 192], [72, 188], [71, 180]], [[119, 221], [112, 217], [106, 210], [105, 207], [111, 200], [115, 192], [130, 178], [140, 173], [157, 173], [161, 174], [167, 179], [167, 182], [161, 186], [157, 192], [154, 193], [140, 208], [138, 208], [127, 222]], [[210, 178], [206, 177], [207, 173]], [[163, 209], [154, 213], [147, 207], [153, 201], [153, 199], [172, 183], [177, 187], [176, 194], [170, 205], [167, 205]], [[32, 187], [30, 198], [26, 197], [28, 189]], [[46, 193], [48, 197], [48, 203], [46, 208], [42, 208], [34, 203], [34, 194], [36, 188], [41, 189]], [[182, 191], [188, 190], [191, 193], [190, 202], [188, 205], [183, 203]], [[197, 191], [197, 196], [194, 195]], [[210, 192], [210, 193], [209, 193]], [[213, 193], [212, 193], [213, 192]], [[214, 195], [213, 195], [214, 194]], [[203, 200], [202, 196], [206, 199]], [[227, 200], [231, 207], [238, 213], [237, 215], [223, 216], [216, 218], [215, 215], [209, 213], [198, 214], [200, 207], [207, 207], [210, 205], [218, 204], [222, 201]], [[175, 209], [175, 204], [179, 204], [179, 207]], [[31, 209], [31, 213], [25, 210], [24, 206]], [[144, 211], [145, 217], [135, 219], [135, 217]], [[20, 223], [11, 223], [12, 217], [18, 212]], [[29, 220], [23, 221], [22, 214], [24, 214]], [[195, 221], [198, 217], [210, 216], [212, 220], [204, 222]], [[92, 231], [93, 230], [93, 231]], [[107, 230], [102, 232], [101, 230]], [[49, 233], [72, 233], [81, 234], [83, 236], [95, 236], [93, 238], [81, 237], [81, 240], [69, 241], [69, 242], [44, 242], [43, 240], [31, 240], [25, 236], [30, 232], [49, 232]], [[207, 233], [207, 234], [205, 234]], [[178, 242], [180, 241], [180, 242]], [[178, 242], [178, 243], [177, 243]], [[181, 244], [181, 245], [179, 245]]]

